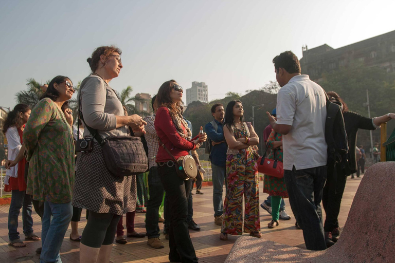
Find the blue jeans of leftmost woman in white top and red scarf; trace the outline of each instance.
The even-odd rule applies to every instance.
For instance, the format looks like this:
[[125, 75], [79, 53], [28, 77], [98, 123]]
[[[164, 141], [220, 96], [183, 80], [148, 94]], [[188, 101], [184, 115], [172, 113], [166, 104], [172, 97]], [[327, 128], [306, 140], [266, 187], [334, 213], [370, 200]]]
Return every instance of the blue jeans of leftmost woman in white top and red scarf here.
[[12, 190], [10, 210], [8, 212], [8, 238], [10, 241], [20, 239], [18, 232], [18, 216], [21, 208], [23, 233], [25, 236], [33, 233], [33, 218], [31, 217], [32, 207], [31, 195], [27, 195], [26, 191]]

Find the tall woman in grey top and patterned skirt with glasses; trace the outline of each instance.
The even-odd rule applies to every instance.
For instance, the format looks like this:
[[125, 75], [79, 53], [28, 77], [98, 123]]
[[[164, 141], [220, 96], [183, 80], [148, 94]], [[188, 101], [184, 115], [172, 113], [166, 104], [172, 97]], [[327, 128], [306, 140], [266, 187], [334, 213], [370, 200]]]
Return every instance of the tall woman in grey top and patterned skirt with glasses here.
[[[147, 123], [138, 115], [124, 116], [122, 104], [109, 86], [123, 67], [120, 55], [118, 48], [104, 46], [87, 59], [93, 73], [82, 81], [78, 94], [84, 138], [93, 137], [86, 125], [102, 139], [128, 135], [127, 126], [145, 132]], [[136, 177], [112, 174], [96, 140], [93, 151], [78, 153], [76, 165], [73, 205], [89, 210], [81, 237], [80, 262], [109, 262], [119, 218], [136, 207]]]

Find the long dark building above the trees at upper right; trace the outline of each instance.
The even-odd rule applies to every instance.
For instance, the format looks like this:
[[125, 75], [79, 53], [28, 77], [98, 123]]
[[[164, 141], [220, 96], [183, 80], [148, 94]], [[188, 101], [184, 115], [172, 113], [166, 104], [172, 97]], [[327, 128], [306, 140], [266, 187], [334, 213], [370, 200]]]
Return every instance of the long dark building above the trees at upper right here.
[[312, 49], [304, 46], [302, 51], [302, 74], [308, 74], [316, 82], [322, 80], [322, 73], [347, 67], [353, 61], [395, 71], [395, 31], [337, 49], [324, 44]]

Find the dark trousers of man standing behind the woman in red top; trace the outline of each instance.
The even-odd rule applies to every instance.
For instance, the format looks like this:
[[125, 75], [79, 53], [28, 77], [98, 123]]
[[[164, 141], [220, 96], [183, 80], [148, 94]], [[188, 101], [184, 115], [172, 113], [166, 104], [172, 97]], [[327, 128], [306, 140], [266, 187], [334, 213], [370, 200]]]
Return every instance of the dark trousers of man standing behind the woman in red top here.
[[157, 172], [157, 167], [152, 166], [148, 174], [148, 189], [150, 198], [148, 199], [146, 214], [146, 231], [148, 238], [159, 237], [159, 206], [163, 201], [163, 185]]

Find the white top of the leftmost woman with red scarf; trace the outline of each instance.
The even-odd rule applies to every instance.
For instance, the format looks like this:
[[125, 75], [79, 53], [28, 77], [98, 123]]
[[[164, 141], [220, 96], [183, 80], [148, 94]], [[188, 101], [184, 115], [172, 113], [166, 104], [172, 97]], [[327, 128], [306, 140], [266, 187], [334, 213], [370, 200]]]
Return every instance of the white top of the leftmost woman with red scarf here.
[[[9, 127], [6, 132], [6, 137], [8, 142], [8, 160], [13, 161], [22, 147], [18, 129], [15, 126]], [[18, 177], [18, 164], [6, 170], [5, 184], [8, 184], [10, 177]]]

